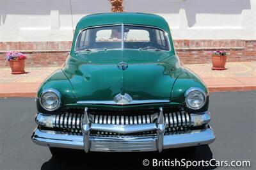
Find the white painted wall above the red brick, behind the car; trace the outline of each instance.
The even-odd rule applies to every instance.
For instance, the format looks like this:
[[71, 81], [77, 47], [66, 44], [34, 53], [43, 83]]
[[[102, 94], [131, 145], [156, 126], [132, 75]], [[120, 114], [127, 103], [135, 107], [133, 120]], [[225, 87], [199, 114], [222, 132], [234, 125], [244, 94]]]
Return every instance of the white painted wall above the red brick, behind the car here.
[[[256, 40], [256, 0], [125, 0], [124, 7], [163, 16], [174, 39]], [[0, 41], [72, 40], [81, 17], [109, 10], [108, 0], [0, 0]]]

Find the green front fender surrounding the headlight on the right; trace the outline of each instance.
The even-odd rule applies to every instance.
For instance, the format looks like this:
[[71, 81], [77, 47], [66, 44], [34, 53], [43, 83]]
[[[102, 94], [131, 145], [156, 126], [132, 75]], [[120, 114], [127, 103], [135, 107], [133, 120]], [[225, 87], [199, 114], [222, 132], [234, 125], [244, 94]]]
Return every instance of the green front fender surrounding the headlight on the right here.
[[[201, 88], [205, 91], [205, 94], [207, 95], [207, 101], [204, 107], [196, 111], [189, 109], [188, 107], [186, 107], [186, 104], [185, 104], [184, 94], [191, 87]], [[202, 79], [200, 79], [200, 77], [198, 77], [191, 70], [184, 68], [183, 72], [180, 73], [180, 75], [177, 77], [173, 85], [171, 102], [177, 102], [177, 103], [183, 104], [184, 110], [188, 112], [204, 112], [204, 111], [207, 111], [209, 107], [209, 92], [204, 82], [202, 81]]]

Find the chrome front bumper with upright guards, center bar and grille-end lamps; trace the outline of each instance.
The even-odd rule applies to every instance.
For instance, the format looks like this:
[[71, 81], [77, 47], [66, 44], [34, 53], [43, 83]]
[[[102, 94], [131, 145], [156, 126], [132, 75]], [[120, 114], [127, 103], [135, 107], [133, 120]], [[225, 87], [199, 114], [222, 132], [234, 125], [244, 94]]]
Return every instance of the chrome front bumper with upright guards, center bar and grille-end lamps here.
[[[202, 130], [189, 130], [179, 134], [164, 134], [166, 122], [164, 121], [163, 109], [159, 108], [159, 116], [156, 123], [140, 125], [104, 125], [90, 122], [88, 110], [84, 109], [83, 121], [81, 122], [83, 135], [74, 135], [68, 132], [56, 132], [52, 130], [40, 130], [36, 128], [32, 135], [35, 144], [48, 147], [72, 148], [88, 151], [159, 151], [168, 148], [182, 148], [210, 144], [216, 138], [213, 130], [208, 127]], [[44, 120], [51, 121], [51, 116], [38, 114], [36, 122], [44, 125]], [[207, 124], [211, 120], [211, 114], [196, 114], [191, 116], [195, 123]], [[113, 132], [122, 135], [90, 135], [91, 130]], [[157, 135], [132, 136], [131, 133], [156, 130]]]

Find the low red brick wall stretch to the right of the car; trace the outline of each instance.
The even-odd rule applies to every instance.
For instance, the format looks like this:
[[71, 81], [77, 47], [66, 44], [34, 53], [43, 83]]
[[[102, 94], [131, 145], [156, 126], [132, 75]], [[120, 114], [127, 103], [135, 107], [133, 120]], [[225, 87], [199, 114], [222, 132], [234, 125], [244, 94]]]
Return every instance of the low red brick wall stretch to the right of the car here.
[[227, 50], [229, 62], [256, 61], [256, 40], [174, 40], [184, 64], [211, 63], [211, 51]]

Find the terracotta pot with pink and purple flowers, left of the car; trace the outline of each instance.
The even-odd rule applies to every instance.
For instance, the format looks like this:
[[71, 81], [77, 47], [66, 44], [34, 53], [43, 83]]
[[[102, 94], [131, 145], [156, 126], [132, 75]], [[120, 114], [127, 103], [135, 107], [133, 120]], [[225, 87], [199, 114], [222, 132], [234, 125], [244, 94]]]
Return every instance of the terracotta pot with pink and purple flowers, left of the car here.
[[27, 57], [18, 51], [6, 52], [6, 61], [10, 62], [12, 74], [25, 73], [25, 59]]

